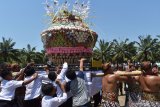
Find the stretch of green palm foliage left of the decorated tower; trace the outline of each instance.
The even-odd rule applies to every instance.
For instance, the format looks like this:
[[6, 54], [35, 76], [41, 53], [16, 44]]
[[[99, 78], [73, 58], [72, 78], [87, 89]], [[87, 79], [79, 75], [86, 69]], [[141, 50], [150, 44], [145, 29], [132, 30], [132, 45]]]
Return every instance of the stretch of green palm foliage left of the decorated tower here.
[[21, 66], [28, 62], [35, 61], [35, 63], [44, 63], [44, 51], [36, 52], [36, 47], [27, 45], [27, 48], [14, 49], [16, 42], [11, 38], [5, 39], [2, 37], [0, 42], [0, 62], [18, 63]]

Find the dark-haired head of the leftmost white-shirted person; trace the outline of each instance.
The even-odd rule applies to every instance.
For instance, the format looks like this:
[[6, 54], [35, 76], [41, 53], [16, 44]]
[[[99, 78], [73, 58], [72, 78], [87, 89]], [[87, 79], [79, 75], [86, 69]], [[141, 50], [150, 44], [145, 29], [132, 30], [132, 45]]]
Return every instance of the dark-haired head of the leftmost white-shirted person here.
[[12, 80], [13, 79], [11, 71], [9, 71], [7, 69], [2, 70], [1, 77], [5, 80]]

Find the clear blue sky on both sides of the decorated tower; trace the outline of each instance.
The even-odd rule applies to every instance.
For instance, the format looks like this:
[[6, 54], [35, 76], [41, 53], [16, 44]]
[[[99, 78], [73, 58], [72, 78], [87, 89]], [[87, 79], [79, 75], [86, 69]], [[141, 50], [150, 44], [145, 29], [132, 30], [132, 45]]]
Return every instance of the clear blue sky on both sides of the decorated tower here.
[[[0, 41], [2, 36], [10, 37], [16, 42], [15, 48], [31, 44], [43, 49], [40, 34], [48, 27], [43, 2], [0, 0]], [[91, 0], [91, 28], [106, 41], [133, 41], [148, 34], [156, 37], [160, 35], [159, 4], [160, 0]]]

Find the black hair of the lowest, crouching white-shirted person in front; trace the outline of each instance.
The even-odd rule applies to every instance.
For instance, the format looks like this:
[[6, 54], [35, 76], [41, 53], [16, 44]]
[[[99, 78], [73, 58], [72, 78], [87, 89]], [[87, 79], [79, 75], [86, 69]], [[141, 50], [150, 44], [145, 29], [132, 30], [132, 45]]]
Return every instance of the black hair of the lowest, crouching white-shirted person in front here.
[[56, 90], [53, 84], [47, 83], [42, 85], [42, 93], [44, 95], [50, 95], [53, 90]]

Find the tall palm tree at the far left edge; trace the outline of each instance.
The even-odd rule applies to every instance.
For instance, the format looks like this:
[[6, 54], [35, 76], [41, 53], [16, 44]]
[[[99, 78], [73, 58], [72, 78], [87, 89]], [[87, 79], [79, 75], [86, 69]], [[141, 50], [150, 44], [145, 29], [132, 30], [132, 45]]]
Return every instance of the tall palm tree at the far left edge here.
[[19, 59], [17, 58], [19, 51], [18, 49], [14, 49], [15, 44], [16, 42], [13, 42], [11, 38], [5, 39], [4, 37], [2, 37], [2, 42], [0, 42], [0, 59], [2, 61], [19, 61]]

